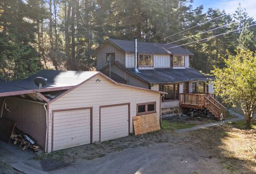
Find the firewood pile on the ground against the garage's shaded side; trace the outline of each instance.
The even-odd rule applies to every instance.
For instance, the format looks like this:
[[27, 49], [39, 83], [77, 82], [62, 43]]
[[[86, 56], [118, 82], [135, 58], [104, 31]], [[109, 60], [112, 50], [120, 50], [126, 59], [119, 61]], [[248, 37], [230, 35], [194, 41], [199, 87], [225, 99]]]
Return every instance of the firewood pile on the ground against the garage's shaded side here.
[[42, 152], [43, 149], [37, 146], [35, 141], [29, 135], [18, 130], [16, 127], [11, 134], [14, 145], [18, 145], [22, 150], [32, 149], [33, 151]]

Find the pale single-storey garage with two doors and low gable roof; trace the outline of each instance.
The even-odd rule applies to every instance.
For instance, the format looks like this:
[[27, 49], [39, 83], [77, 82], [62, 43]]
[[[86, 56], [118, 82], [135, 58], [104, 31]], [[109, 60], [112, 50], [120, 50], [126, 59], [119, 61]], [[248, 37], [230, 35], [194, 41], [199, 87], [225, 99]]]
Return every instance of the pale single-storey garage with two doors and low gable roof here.
[[[33, 83], [38, 76], [47, 78], [40, 90]], [[0, 83], [0, 117], [15, 121], [51, 152], [128, 136], [133, 116], [156, 113], [160, 118], [162, 94], [117, 83], [100, 72], [44, 70]]]

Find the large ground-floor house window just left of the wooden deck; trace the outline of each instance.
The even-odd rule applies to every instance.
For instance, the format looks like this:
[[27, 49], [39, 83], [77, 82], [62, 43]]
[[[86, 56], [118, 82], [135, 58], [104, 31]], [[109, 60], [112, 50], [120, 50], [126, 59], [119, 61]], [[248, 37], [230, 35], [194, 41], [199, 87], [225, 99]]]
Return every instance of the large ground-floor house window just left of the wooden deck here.
[[166, 92], [163, 97], [163, 100], [177, 100], [179, 99], [179, 84], [168, 84], [168, 85], [161, 85], [160, 91]]

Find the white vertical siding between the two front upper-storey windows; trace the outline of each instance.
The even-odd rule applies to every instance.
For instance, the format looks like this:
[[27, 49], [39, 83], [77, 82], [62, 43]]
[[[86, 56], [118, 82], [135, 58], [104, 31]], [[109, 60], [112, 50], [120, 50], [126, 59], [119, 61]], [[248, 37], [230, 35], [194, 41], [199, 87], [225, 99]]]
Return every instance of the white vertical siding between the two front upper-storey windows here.
[[171, 57], [166, 54], [154, 54], [154, 67], [155, 68], [168, 68], [171, 67]]

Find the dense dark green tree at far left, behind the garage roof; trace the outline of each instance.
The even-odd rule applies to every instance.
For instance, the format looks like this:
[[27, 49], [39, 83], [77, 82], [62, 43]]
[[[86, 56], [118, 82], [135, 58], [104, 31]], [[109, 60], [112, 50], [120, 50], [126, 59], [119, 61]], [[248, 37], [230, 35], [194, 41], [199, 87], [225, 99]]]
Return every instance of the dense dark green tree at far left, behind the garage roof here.
[[25, 78], [39, 71], [36, 44], [36, 13], [31, 1], [0, 1], [0, 81]]

